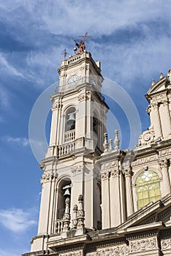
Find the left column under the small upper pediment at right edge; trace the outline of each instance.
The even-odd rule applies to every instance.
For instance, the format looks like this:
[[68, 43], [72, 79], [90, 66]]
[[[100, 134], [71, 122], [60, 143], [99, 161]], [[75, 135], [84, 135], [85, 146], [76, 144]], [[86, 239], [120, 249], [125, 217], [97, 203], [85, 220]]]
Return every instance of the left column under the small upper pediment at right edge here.
[[[160, 116], [159, 116], [159, 106], [158, 103], [153, 103], [153, 127], [155, 132], [155, 138], [162, 137], [161, 132], [161, 122], [160, 122]], [[152, 114], [152, 113], [151, 113]]]

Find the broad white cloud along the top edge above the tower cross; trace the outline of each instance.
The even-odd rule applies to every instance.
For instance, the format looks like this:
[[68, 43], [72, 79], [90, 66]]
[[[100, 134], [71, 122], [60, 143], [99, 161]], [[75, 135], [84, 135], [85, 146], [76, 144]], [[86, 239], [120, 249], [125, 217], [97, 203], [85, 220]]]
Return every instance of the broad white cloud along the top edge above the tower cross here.
[[[31, 15], [37, 12], [37, 20], [54, 34], [92, 32], [94, 35], [110, 34], [127, 26], [138, 26], [141, 22], [170, 19], [170, 13], [161, 10], [169, 1], [136, 0], [123, 1], [20, 1]], [[105, 20], [105, 22], [103, 22]]]

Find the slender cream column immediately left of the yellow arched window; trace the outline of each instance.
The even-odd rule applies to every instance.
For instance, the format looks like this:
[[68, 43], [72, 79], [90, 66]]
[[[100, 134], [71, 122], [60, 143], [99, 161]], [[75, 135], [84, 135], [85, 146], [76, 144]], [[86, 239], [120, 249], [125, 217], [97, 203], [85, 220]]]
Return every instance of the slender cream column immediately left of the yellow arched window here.
[[132, 196], [132, 168], [123, 170], [126, 181], [126, 209], [127, 217], [134, 214], [133, 196]]

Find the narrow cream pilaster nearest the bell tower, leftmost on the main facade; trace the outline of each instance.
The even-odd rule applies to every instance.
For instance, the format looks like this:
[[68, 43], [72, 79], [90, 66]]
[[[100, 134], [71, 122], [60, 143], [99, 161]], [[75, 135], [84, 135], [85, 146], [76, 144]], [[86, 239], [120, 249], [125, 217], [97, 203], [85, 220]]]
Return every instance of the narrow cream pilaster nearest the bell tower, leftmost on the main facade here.
[[109, 172], [102, 173], [102, 229], [110, 227]]

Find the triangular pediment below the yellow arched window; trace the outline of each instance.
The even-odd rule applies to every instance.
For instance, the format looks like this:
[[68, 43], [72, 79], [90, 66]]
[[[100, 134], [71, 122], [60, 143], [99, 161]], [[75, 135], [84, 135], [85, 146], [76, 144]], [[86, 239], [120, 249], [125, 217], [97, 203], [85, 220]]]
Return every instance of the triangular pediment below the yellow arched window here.
[[171, 194], [135, 212], [115, 231], [117, 233], [136, 232], [136, 230], [151, 230], [163, 225], [166, 227], [171, 225]]

